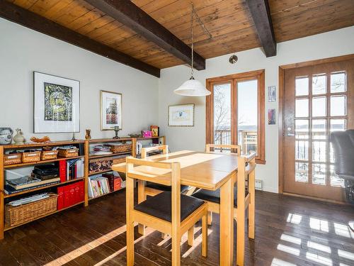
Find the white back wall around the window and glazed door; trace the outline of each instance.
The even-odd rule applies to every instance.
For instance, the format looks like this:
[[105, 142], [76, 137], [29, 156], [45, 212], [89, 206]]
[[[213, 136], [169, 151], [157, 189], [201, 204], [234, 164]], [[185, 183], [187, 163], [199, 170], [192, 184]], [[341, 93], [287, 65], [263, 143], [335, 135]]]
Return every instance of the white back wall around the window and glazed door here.
[[[205, 84], [205, 79], [210, 77], [265, 69], [265, 88], [276, 85], [278, 89], [278, 67], [280, 65], [353, 54], [353, 43], [354, 26], [279, 43], [275, 57], [265, 57], [260, 48], [237, 52], [239, 61], [234, 65], [229, 64], [230, 55], [215, 57], [207, 60], [206, 70], [195, 72], [195, 78]], [[166, 135], [166, 141], [171, 150], [204, 150], [205, 147], [205, 98], [173, 94], [173, 89], [179, 87], [189, 77], [190, 70], [186, 66], [171, 67], [161, 71], [159, 126], [161, 133]], [[267, 93], [265, 93], [266, 96]], [[168, 106], [190, 103], [195, 104], [195, 126], [193, 128], [167, 126]], [[265, 116], [270, 108], [277, 109], [278, 113], [278, 101], [268, 103], [265, 99]], [[277, 125], [268, 126], [267, 123], [265, 125], [265, 160], [265, 165], [257, 166], [256, 178], [263, 180], [265, 190], [278, 192], [278, 121]]]

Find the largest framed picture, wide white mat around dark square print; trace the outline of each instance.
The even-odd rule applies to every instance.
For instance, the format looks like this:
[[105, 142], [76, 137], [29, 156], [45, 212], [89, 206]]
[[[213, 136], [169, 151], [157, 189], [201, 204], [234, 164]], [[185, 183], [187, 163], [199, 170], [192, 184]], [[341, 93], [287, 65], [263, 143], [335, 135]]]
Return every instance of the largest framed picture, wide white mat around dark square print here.
[[33, 132], [80, 132], [80, 82], [33, 72]]

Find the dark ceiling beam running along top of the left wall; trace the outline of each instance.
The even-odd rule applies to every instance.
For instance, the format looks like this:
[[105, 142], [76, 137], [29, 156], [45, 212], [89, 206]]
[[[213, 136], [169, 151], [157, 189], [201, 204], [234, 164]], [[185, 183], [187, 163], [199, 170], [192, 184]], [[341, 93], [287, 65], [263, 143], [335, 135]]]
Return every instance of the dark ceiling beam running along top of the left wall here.
[[23, 9], [20, 6], [11, 4], [8, 1], [0, 0], [0, 17], [6, 18], [8, 21], [13, 21], [35, 31], [39, 31], [40, 33], [50, 35], [59, 40], [63, 40], [64, 42], [79, 46], [80, 48], [95, 52], [98, 55], [110, 58], [111, 60], [141, 70], [142, 72], [152, 74], [155, 77], [160, 77], [160, 70], [158, 68], [139, 61], [123, 52], [110, 48], [107, 45], [98, 43], [96, 40], [92, 40], [85, 35], [76, 33], [69, 28], [65, 28], [58, 23]]

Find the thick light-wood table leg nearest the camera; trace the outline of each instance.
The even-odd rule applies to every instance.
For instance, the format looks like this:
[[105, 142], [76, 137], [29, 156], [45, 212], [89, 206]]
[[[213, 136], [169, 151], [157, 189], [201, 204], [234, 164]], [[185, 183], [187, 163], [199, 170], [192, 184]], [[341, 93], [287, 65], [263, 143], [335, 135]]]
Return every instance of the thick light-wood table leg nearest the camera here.
[[234, 260], [234, 182], [232, 177], [220, 187], [220, 265]]

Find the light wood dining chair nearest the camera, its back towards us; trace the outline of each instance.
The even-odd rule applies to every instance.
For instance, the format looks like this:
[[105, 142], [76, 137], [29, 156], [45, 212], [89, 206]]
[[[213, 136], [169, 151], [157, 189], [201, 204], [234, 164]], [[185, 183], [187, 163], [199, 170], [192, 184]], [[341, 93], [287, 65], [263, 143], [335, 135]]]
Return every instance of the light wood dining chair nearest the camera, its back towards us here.
[[[202, 219], [202, 256], [207, 256], [207, 203], [181, 194], [179, 162], [152, 162], [127, 157], [127, 265], [134, 265], [134, 223], [155, 228], [171, 235], [172, 265], [181, 265], [181, 236]], [[164, 175], [162, 175], [164, 174]], [[154, 182], [171, 187], [141, 203], [134, 204], [134, 180]]]

